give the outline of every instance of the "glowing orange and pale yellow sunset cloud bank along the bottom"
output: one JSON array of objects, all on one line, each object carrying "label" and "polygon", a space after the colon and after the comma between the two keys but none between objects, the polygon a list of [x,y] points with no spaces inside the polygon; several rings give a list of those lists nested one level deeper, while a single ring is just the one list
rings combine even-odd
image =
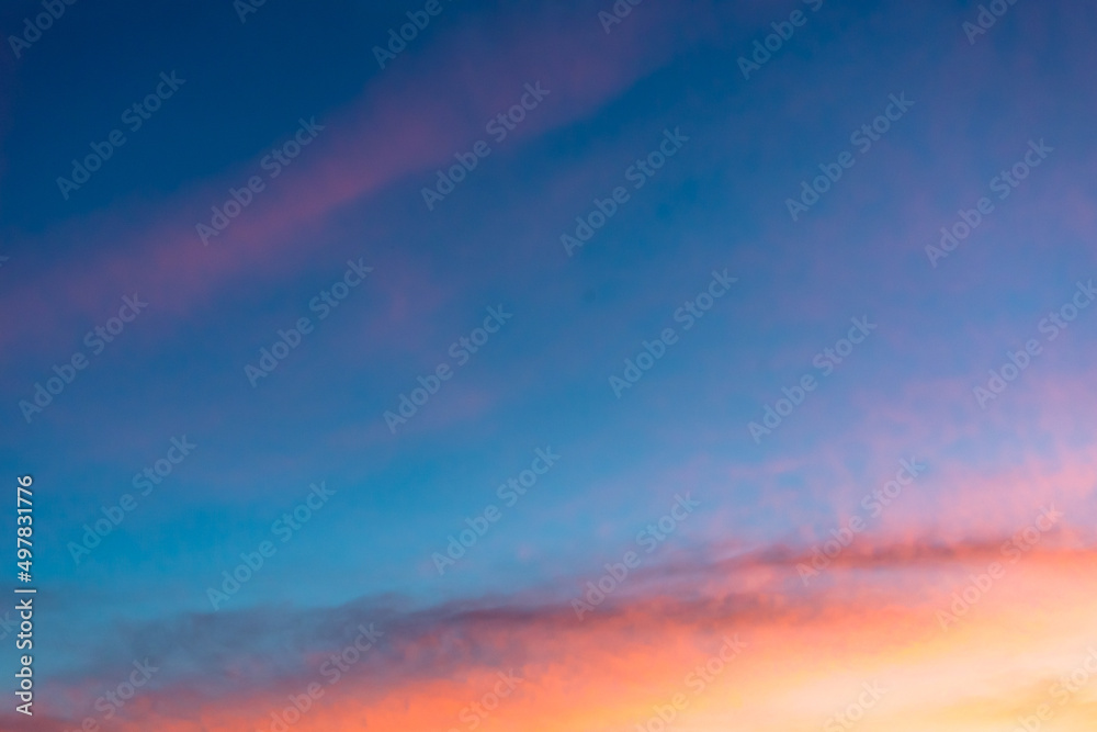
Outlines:
[{"label": "glowing orange and pale yellow sunset cloud bank along the bottom", "polygon": [[[581,621],[566,603],[529,598],[389,609],[376,647],[335,683],[324,660],[349,641],[326,632],[298,639],[316,650],[296,663],[284,657],[292,645],[268,649],[268,665],[252,664],[255,674],[287,663],[296,671],[267,682],[226,677],[218,691],[208,678],[176,674],[127,707],[118,729],[271,730],[276,713],[302,732],[635,732],[664,729],[663,718],[691,732],[989,732],[1041,709],[1060,725],[1052,729],[1089,729],[1097,553],[1039,543],[983,584],[992,562],[1007,561],[1000,543],[878,547],[806,589],[793,553],[663,567],[630,578],[634,586]],[[964,594],[971,586],[977,597]],[[954,611],[958,596],[972,601],[942,628],[939,612]],[[364,612],[329,611],[324,624],[351,626]],[[239,620],[271,637],[262,622]],[[201,633],[192,645],[217,642],[210,627],[200,629],[190,630]],[[732,653],[735,639],[743,646]],[[225,657],[251,667],[241,660],[247,639],[240,643]],[[310,684],[323,696],[306,702]],[[308,707],[299,718],[291,697]]]}]

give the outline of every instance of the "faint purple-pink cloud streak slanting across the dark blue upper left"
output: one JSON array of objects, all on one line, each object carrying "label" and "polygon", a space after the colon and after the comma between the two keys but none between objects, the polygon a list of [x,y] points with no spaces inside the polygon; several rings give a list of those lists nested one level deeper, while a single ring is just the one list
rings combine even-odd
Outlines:
[{"label": "faint purple-pink cloud streak slanting across the dark blue upper left", "polygon": [[[637,32],[703,14],[645,10]],[[16,342],[69,333],[79,327],[73,322],[104,312],[118,293],[134,289],[184,317],[241,278],[292,274],[316,258],[303,241],[328,217],[412,173],[431,178],[434,167],[484,136],[484,121],[513,104],[525,82],[541,80],[552,98],[543,102],[544,114],[531,115],[512,133],[517,139],[591,113],[665,61],[675,45],[667,40],[672,36],[652,41],[626,33],[592,43],[596,31],[592,16],[553,8],[490,21],[470,15],[448,41],[423,45],[419,56],[372,80],[359,103],[317,120],[325,131],[278,179],[268,180],[267,190],[208,247],[195,224],[208,222],[210,206],[223,204],[229,187],[259,172],[256,166],[226,171],[167,201],[131,203],[70,222],[25,244],[26,249],[55,249],[71,240],[84,246],[39,261],[36,273],[0,299],[0,312],[12,314],[0,345],[8,351]],[[389,224],[386,235],[396,236],[392,229],[399,226]],[[33,315],[16,318],[16,312]]]}]

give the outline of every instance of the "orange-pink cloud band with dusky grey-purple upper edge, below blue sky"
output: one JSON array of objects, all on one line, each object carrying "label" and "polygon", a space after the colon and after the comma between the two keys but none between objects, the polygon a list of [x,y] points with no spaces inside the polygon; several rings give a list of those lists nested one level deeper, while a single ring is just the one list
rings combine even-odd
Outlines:
[{"label": "orange-pink cloud band with dusky grey-purple upper edge, below blue sky", "polygon": [[[630,729],[630,719],[646,719],[651,705],[682,690],[690,669],[716,653],[727,634],[738,633],[750,650],[720,685],[734,679],[736,695],[756,699],[744,708],[749,716],[761,714],[777,697],[802,698],[806,708],[822,705],[813,685],[840,687],[844,678],[832,668],[834,657],[850,668],[891,664],[892,676],[921,684],[926,666],[975,653],[955,672],[974,683],[994,671],[998,651],[972,649],[987,634],[1013,632],[1010,623],[1026,617],[1032,638],[1010,650],[1026,662],[999,685],[1040,687],[1048,672],[1038,672],[1028,656],[1045,657],[1053,649],[1061,656],[1055,663],[1065,663],[1085,641],[1093,548],[1041,543],[1009,565],[1005,578],[947,632],[935,617],[950,607],[968,575],[1003,561],[999,547],[1007,538],[851,547],[828,568],[826,582],[806,589],[795,573],[798,563],[810,561],[805,549],[740,548],[708,562],[672,556],[629,577],[581,621],[558,590],[548,589],[437,606],[374,597],[337,608],[191,613],[120,627],[88,666],[52,679],[43,698],[86,709],[110,679],[124,680],[132,660],[150,657],[163,671],[143,692],[144,706],[127,710],[133,729],[261,724],[286,695],[312,683],[326,696],[299,729],[353,729],[362,716],[381,729],[446,729],[460,727],[461,710],[490,692],[502,671],[522,684],[500,703],[494,723],[536,719],[542,721],[522,729],[617,730]],[[725,552],[711,549],[713,556]],[[570,583],[576,594],[585,579]],[[330,683],[331,654],[348,649],[359,627],[371,623],[383,633],[375,647]],[[857,685],[849,688],[856,697]],[[895,696],[917,694],[912,687]],[[573,696],[575,703],[566,703]],[[934,697],[923,718],[955,719],[962,714],[951,705],[963,706],[964,699]],[[715,698],[704,703],[728,713]],[[996,713],[994,705],[983,709]],[[801,721],[801,712],[780,719]]]}]

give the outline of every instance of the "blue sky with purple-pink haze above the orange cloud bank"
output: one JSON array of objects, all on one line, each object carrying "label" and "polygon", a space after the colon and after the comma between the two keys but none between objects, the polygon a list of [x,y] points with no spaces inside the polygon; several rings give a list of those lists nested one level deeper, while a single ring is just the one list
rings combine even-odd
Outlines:
[{"label": "blue sky with purple-pink haze above the orange cloud bank", "polygon": [[[19,58],[0,54],[0,464],[33,473],[39,496],[50,718],[79,723],[89,679],[155,649],[172,663],[148,708],[127,712],[132,729],[245,729],[219,717],[231,700],[261,708],[263,694],[315,671],[329,632],[316,618],[359,607],[385,608],[422,638],[444,633],[453,608],[534,607],[514,627],[533,643],[542,616],[568,611],[677,494],[702,508],[614,600],[653,628],[677,618],[671,634],[711,623],[695,608],[667,611],[668,597],[914,608],[900,577],[918,562],[871,582],[855,573],[855,588],[819,599],[805,598],[788,559],[829,537],[901,459],[924,460],[927,475],[870,527],[866,556],[943,547],[977,562],[972,547],[1049,500],[1068,509],[1056,547],[1092,545],[1093,316],[1083,309],[1054,340],[1038,326],[1097,271],[1093,11],[1016,3],[970,43],[971,3],[812,4],[653,1],[607,33],[598,13],[610,5],[443,2],[382,69],[373,46],[419,7],[271,1],[241,22],[222,1],[78,2]],[[738,59],[796,9],[804,24],[744,78]],[[35,12],[13,3],[0,25],[14,32]],[[185,81],[126,129],[124,111],[161,74]],[[548,93],[496,142],[487,125],[525,85]],[[851,134],[901,94],[909,109],[859,148]],[[313,120],[315,139],[271,177],[264,156]],[[63,196],[57,178],[115,128],[125,145]],[[680,149],[636,188],[630,169],[667,134]],[[490,155],[428,209],[422,189],[477,140]],[[992,179],[1039,140],[1045,158],[998,199]],[[793,221],[787,200],[844,151],[851,167]],[[196,225],[256,176],[263,189],[204,244]],[[617,187],[629,200],[569,255],[562,235]],[[932,262],[941,226],[983,195],[995,210]],[[373,269],[320,319],[309,303],[344,281],[348,261]],[[675,314],[714,271],[737,281],[686,329]],[[93,353],[86,334],[135,294],[147,309]],[[451,346],[489,308],[513,316],[459,364]],[[314,329],[252,386],[245,367],[302,317]],[[877,328],[824,373],[813,360],[852,318]],[[610,378],[666,328],[677,340],[614,394]],[[982,408],[973,388],[1030,338],[1044,352]],[[21,401],[78,352],[87,369],[24,418]],[[391,430],[384,413],[443,363],[452,379]],[[817,388],[753,439],[748,425],[804,374]],[[136,494],[134,475],[184,436],[193,452],[75,562],[83,525]],[[497,486],[550,447],[558,463],[502,506]],[[282,543],[272,523],[320,482],[335,494]],[[431,554],[489,504],[501,519],[439,576]],[[207,588],[272,537],[276,553],[214,609]],[[747,576],[721,568],[743,558],[757,560]],[[924,581],[943,592],[946,576]],[[240,653],[275,671],[226,671],[206,644],[265,618],[282,630],[248,633]],[[294,623],[316,634],[274,660]],[[173,649],[165,639],[177,637]],[[619,640],[622,657],[637,647]],[[446,656],[446,678],[472,674],[497,642]],[[771,654],[758,663],[783,663]],[[522,657],[553,667],[551,653]],[[434,710],[439,694],[463,694],[428,683],[448,672],[405,672],[364,709],[384,717],[406,698]],[[207,686],[217,678],[223,689]],[[551,696],[559,675],[542,680]],[[579,707],[591,716],[553,723],[618,729],[598,703]],[[351,723],[331,713],[327,723]],[[733,719],[712,714],[689,729]]]}]

